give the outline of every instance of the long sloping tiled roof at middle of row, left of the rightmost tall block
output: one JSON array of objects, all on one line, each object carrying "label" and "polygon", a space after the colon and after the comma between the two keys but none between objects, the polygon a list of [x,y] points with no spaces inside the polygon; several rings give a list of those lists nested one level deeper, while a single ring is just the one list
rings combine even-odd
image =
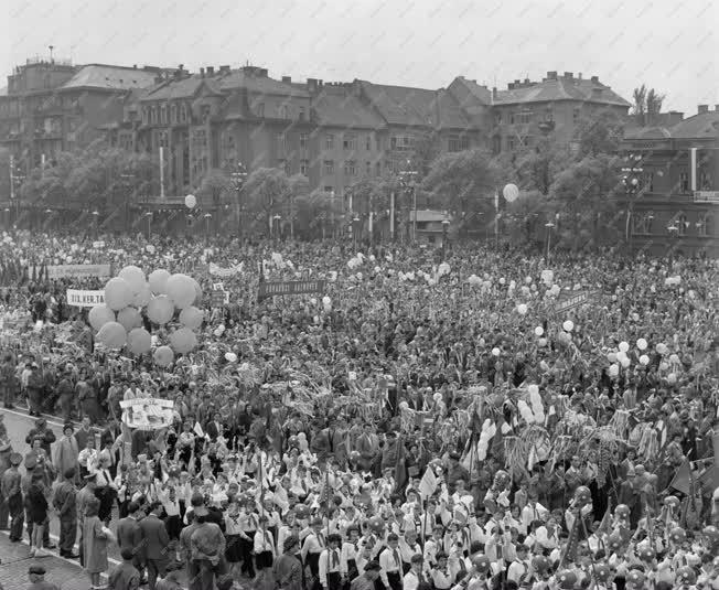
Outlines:
[{"label": "long sloping tiled roof at middle of row, left of the rightmost tall block", "polygon": [[357,81],[372,106],[389,125],[466,128],[457,100],[447,90],[386,86]]}]

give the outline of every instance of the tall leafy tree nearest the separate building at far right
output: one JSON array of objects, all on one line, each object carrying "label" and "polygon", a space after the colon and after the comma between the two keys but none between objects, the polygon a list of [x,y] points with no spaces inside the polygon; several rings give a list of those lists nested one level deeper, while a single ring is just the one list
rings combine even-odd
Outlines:
[{"label": "tall leafy tree nearest the separate building at far right", "polygon": [[600,226],[614,226],[621,165],[616,155],[587,155],[557,175],[549,192],[560,214],[557,234],[562,243],[573,249],[595,246]]}]

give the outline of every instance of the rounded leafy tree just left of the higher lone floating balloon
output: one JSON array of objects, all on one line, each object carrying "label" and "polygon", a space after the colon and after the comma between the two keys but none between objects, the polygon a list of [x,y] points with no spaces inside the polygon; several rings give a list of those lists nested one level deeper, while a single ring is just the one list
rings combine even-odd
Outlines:
[{"label": "rounded leafy tree just left of the higher lone floating balloon", "polygon": [[501,179],[501,169],[482,150],[440,155],[432,164],[422,187],[441,208],[454,214],[486,208]]}]

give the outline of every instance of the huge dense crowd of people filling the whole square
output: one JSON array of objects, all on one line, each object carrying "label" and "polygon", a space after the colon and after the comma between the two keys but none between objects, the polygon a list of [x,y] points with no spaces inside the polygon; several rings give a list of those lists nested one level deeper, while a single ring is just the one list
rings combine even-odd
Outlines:
[{"label": "huge dense crowd of people filling the whole square", "polygon": [[[25,233],[0,260],[0,397],[37,416],[0,528],[39,558],[56,516],[94,587],[719,588],[716,260]],[[65,291],[106,278],[42,269],[99,262],[194,277],[197,348],[98,346]],[[298,279],[323,290],[257,301]],[[144,398],[172,425],[130,428]]]}]

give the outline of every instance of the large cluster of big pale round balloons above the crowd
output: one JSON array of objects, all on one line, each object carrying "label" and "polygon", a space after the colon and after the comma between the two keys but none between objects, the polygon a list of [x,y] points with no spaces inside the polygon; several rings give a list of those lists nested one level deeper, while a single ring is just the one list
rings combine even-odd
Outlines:
[{"label": "large cluster of big pale round balloons above the crowd", "polygon": [[146,278],[136,266],[125,267],[105,285],[105,304],[89,311],[89,323],[99,343],[111,350],[127,346],[133,354],[152,350],[153,339],[143,328],[140,310],[146,309],[151,323],[164,326],[179,311],[176,328],[164,344],[154,350],[154,362],[168,366],[175,354],[186,354],[197,345],[195,330],[204,320],[195,303],[202,300],[200,283],[186,275],[154,270]]}]

